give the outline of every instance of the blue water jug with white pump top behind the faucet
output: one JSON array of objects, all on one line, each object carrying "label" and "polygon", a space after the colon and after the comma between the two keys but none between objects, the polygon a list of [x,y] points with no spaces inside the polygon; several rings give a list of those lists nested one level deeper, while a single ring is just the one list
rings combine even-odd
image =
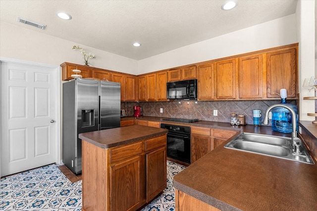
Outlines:
[{"label": "blue water jug with white pump top behind the faucet", "polygon": [[[291,133],[293,131],[292,118],[298,120],[297,106],[286,102],[286,89],[280,89],[281,104],[287,104],[296,113],[296,117],[292,117],[292,114],[286,108],[277,107],[272,109],[272,130],[277,132]],[[298,121],[296,121],[298,122]],[[298,124],[296,126],[298,131]]]}]

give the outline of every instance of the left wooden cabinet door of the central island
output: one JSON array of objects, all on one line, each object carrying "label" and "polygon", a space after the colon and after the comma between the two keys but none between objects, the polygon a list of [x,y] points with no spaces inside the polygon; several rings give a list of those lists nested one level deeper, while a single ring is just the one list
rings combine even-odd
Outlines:
[{"label": "left wooden cabinet door of the central island", "polygon": [[110,168],[111,211],[135,211],[145,204],[144,172],[144,156],[137,156]]}]

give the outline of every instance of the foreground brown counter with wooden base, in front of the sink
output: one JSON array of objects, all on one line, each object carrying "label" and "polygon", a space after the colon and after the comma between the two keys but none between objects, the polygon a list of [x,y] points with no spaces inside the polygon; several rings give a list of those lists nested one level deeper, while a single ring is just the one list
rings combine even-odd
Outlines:
[{"label": "foreground brown counter with wooden base, in front of the sink", "polygon": [[224,148],[231,139],[174,176],[176,211],[317,210],[316,160]]}]

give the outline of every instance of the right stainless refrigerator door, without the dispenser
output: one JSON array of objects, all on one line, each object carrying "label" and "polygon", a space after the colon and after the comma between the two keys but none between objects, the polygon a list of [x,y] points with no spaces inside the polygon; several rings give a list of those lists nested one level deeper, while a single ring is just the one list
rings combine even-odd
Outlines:
[{"label": "right stainless refrigerator door, without the dispenser", "polygon": [[100,82],[100,129],[120,127],[120,83]]}]

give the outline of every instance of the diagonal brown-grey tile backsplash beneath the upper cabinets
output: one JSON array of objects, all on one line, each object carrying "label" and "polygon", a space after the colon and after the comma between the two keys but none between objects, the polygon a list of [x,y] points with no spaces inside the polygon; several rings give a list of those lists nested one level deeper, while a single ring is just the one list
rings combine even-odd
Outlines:
[{"label": "diagonal brown-grey tile backsplash beneath the upper cabinets", "polygon": [[[197,104],[196,104],[197,102]],[[126,111],[127,116],[133,116],[133,106],[141,106],[144,116],[199,119],[204,121],[230,122],[230,114],[242,114],[245,116],[245,123],[253,125],[253,109],[260,109],[263,113],[280,100],[241,100],[241,101],[195,101],[176,100],[169,102],[121,102],[121,109]],[[287,100],[287,103],[297,105],[297,100]],[[160,108],[163,113],[160,113]],[[213,110],[218,111],[213,116]]]}]

